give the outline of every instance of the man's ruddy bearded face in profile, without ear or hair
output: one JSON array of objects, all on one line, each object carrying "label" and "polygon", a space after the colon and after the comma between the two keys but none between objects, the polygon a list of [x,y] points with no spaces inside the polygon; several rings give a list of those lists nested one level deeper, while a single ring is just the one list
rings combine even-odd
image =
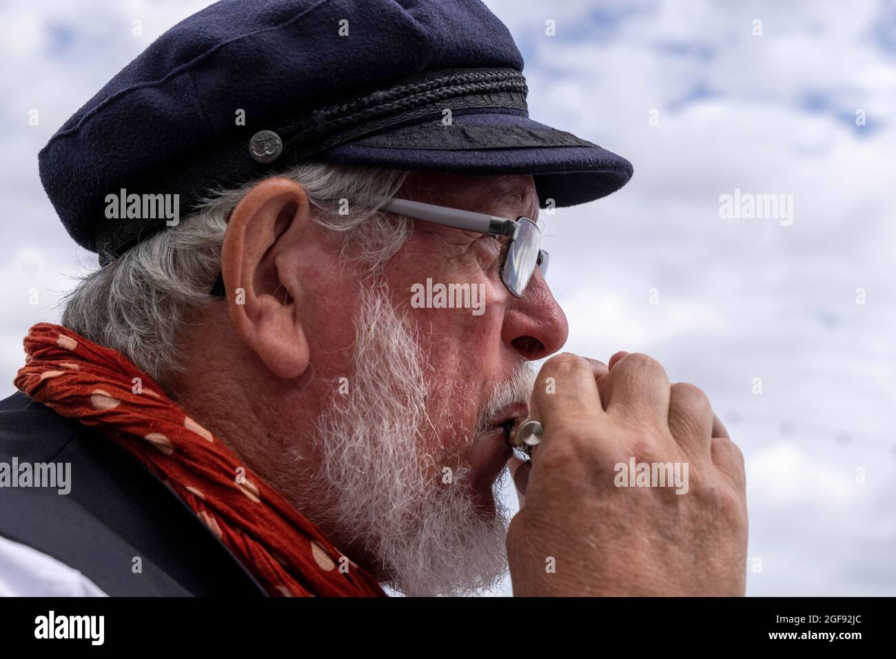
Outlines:
[{"label": "man's ruddy bearded face in profile, without ear or hair", "polygon": [[[538,216],[530,176],[411,175],[398,196]],[[340,251],[315,235],[332,241],[322,252]],[[540,272],[522,298],[504,287],[502,240],[415,222],[380,273],[301,254],[286,266],[313,307],[303,313],[313,372],[280,381],[292,403],[269,429],[283,434],[282,454],[263,460],[264,475],[409,595],[473,591],[507,569],[509,515],[495,497],[511,457],[503,424],[526,414],[528,362],[562,347],[567,326]],[[478,309],[411,304],[427,278],[478,289]]]}]

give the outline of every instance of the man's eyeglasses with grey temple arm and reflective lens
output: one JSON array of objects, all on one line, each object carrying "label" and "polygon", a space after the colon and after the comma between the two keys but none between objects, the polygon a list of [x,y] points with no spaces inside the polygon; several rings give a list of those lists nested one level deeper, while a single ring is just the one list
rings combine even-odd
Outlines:
[{"label": "man's eyeglasses with grey temple arm and reflective lens", "polygon": [[[547,277],[550,255],[540,248],[544,223],[538,218],[535,220],[524,217],[496,218],[494,215],[476,213],[472,210],[452,209],[408,199],[392,199],[384,208],[398,215],[434,222],[444,227],[476,231],[495,237],[506,236],[507,244],[501,253],[498,267],[501,282],[514,297],[522,297],[536,266],[541,270],[541,276]],[[210,295],[212,297],[226,295],[222,276],[219,275],[211,287]]]}]

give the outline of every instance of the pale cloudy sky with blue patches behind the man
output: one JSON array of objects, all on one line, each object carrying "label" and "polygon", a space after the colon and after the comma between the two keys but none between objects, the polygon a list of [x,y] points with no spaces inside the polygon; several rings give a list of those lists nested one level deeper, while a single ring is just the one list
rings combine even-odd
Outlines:
[{"label": "pale cloudy sky with blue patches behind the man", "polygon": [[[0,1],[0,393],[27,329],[96,265],[38,150],[204,4]],[[525,56],[530,115],[634,165],[547,218],[566,349],[645,352],[708,392],[747,463],[748,595],[896,595],[896,4],[487,4]],[[788,212],[727,217],[736,190]]]}]

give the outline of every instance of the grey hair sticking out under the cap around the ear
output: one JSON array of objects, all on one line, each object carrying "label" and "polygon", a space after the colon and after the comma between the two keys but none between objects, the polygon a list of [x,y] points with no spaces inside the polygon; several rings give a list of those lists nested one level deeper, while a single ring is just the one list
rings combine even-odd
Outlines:
[{"label": "grey hair sticking out under the cap around the ear", "polygon": [[[408,172],[310,163],[278,175],[302,185],[314,221],[345,234],[343,259],[362,270],[380,269],[409,235],[407,218],[382,212]],[[181,371],[180,329],[210,304],[228,216],[259,180],[211,192],[176,227],[85,275],[65,295],[62,324],[121,352],[157,382]]]}]

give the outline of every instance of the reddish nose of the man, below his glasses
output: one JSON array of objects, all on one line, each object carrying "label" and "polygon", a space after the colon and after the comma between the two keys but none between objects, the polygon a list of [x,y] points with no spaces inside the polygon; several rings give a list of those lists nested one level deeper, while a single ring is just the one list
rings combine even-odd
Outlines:
[{"label": "reddish nose of the man, below his glasses", "polygon": [[556,353],[568,336],[566,314],[536,270],[522,297],[508,295],[501,338],[521,356],[536,360]]}]

